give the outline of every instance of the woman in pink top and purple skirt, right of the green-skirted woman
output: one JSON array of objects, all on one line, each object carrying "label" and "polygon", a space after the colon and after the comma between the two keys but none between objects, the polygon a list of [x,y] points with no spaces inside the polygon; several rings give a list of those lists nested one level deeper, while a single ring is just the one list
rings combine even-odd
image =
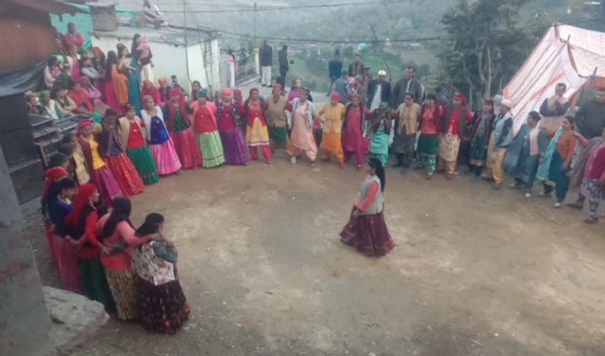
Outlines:
[{"label": "woman in pink top and purple skirt, right of the green-skirted woman", "polygon": [[223,90],[223,95],[216,106],[216,119],[225,161],[228,165],[247,165],[250,161],[250,152],[241,128],[240,103],[233,97],[231,89]]}]

